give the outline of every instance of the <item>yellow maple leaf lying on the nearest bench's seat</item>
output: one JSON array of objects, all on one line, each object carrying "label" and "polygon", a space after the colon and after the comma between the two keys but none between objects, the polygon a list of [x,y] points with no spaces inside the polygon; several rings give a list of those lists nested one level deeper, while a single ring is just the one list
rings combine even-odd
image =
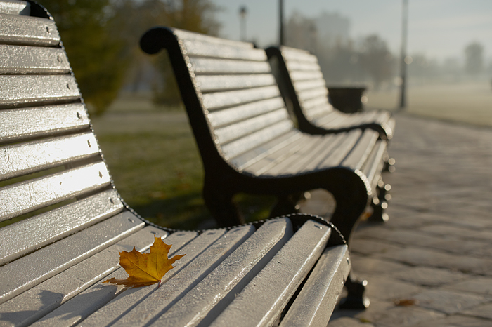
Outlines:
[{"label": "yellow maple leaf lying on the nearest bench's seat", "polygon": [[174,267],[172,264],[183,258],[183,255],[174,255],[167,258],[170,245],[162,241],[160,237],[154,236],[154,243],[150,246],[150,253],[140,253],[134,248],[130,252],[119,253],[119,265],[130,275],[127,279],[111,278],[103,283],[112,283],[131,287],[141,287],[159,283],[160,280]]}]

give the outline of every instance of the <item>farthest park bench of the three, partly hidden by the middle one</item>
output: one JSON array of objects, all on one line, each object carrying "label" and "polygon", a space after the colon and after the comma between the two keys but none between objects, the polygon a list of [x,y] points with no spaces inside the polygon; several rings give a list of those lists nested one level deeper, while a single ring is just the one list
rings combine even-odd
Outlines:
[{"label": "farthest park bench of the three, partly hidden by the middle one", "polygon": [[316,55],[287,46],[271,46],[266,53],[278,68],[280,90],[292,103],[301,131],[326,134],[352,128],[372,128],[384,140],[393,137],[395,121],[389,112],[373,110],[346,114],[330,104]]}]

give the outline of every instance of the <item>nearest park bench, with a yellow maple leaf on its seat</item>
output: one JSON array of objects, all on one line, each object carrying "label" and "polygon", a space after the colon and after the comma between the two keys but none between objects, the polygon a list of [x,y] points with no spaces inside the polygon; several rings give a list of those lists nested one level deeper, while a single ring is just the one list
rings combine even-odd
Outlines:
[{"label": "nearest park bench, with a yellow maple leaf on its seat", "polygon": [[[125,278],[119,251],[154,237],[186,253],[160,288],[101,285]],[[199,232],[138,216],[53,18],[0,1],[0,326],[325,326],[350,267],[342,234],[312,215]]]}]

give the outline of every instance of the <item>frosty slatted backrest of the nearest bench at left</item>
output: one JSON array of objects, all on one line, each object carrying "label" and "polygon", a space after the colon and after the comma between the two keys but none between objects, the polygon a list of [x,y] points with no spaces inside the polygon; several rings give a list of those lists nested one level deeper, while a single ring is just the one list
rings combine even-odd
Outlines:
[{"label": "frosty slatted backrest of the nearest bench at left", "polygon": [[55,22],[2,2],[0,265],[123,209]]}]

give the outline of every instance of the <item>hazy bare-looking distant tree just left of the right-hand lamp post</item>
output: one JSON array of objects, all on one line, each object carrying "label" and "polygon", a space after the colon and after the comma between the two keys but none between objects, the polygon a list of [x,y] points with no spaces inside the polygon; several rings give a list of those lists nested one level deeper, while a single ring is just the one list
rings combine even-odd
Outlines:
[{"label": "hazy bare-looking distant tree just left of the right-hand lamp post", "polygon": [[373,79],[375,88],[391,79],[394,69],[394,58],[389,52],[385,41],[377,35],[367,36],[361,48],[361,65]]}]

